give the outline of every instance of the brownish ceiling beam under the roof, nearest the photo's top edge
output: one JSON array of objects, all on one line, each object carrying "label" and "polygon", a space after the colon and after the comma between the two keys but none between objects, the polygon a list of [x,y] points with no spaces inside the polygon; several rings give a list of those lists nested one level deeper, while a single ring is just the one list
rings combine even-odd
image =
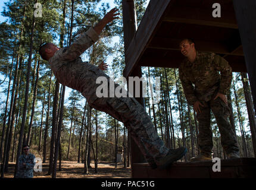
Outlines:
[{"label": "brownish ceiling beam under the roof, nearest the photo's top edge", "polygon": [[[214,18],[212,15],[212,5],[208,9],[200,7],[173,7],[168,15],[164,17],[164,22],[198,24],[203,26],[223,27],[229,29],[238,29],[236,24],[235,12],[221,11],[220,18]],[[232,6],[232,4],[230,4]]]}]

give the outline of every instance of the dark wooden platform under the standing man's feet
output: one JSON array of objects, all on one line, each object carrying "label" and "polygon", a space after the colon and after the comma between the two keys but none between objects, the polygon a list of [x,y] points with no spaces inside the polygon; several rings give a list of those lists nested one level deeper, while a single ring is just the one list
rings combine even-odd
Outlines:
[{"label": "dark wooden platform under the standing man's feet", "polygon": [[151,169],[148,163],[133,163],[133,178],[256,178],[256,159],[221,160],[221,172],[213,162],[174,162],[170,168]]}]

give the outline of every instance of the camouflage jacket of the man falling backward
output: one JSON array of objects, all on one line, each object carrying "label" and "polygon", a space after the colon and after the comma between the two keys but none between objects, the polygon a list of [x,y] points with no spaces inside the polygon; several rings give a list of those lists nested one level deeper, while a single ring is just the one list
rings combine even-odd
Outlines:
[{"label": "camouflage jacket of the man falling backward", "polygon": [[90,28],[71,46],[61,48],[49,59],[58,82],[80,91],[88,102],[93,102],[97,98],[92,85],[95,85],[96,81],[96,75],[93,75],[93,72],[97,73],[99,69],[88,62],[83,62],[79,56],[98,39],[96,31]]}]

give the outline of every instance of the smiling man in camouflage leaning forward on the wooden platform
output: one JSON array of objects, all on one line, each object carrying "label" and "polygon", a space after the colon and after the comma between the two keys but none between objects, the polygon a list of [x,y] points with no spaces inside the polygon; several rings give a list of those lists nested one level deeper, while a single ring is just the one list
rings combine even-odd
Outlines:
[{"label": "smiling man in camouflage leaning forward on the wooden platform", "polygon": [[224,58],[215,53],[198,52],[192,39],[182,40],[180,50],[186,58],[179,67],[179,77],[186,99],[189,105],[193,105],[199,121],[198,144],[201,154],[193,157],[191,161],[213,159],[211,110],[216,118],[221,145],[227,157],[238,158],[239,149],[235,129],[232,129],[228,120],[230,109],[226,97],[232,80],[231,67]]}]

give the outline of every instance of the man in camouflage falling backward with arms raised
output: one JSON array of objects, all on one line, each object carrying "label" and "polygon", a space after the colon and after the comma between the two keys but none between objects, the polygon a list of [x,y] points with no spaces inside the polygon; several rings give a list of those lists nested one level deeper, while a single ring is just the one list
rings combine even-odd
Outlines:
[{"label": "man in camouflage falling backward with arms raised", "polygon": [[[56,45],[47,43],[40,47],[39,53],[49,62],[59,83],[80,91],[91,107],[123,122],[150,166],[161,169],[183,157],[186,148],[168,150],[158,137],[144,108],[133,97],[97,97],[96,88],[99,84],[96,84],[96,79],[107,78],[109,93],[110,77],[101,71],[101,69],[104,70],[104,64],[99,67],[93,66],[83,62],[79,57],[98,40],[99,34],[107,23],[118,18],[116,12],[115,8],[108,12],[95,27],[83,33],[70,47],[59,49]],[[118,87],[117,84],[115,84],[116,87]]]}]

